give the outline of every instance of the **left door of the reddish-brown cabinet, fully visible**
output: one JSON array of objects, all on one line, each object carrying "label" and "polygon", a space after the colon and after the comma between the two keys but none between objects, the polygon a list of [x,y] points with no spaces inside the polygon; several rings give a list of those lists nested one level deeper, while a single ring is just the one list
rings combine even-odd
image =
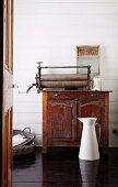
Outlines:
[{"label": "left door of the reddish-brown cabinet, fully visible", "polygon": [[76,105],[74,101],[48,101],[48,142],[72,141],[75,136]]}]

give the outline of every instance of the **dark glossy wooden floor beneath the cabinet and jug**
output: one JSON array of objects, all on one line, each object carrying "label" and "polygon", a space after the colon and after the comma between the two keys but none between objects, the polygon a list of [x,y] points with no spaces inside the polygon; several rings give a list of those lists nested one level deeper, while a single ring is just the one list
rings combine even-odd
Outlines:
[{"label": "dark glossy wooden floor beneath the cabinet and jug", "polygon": [[78,158],[76,148],[42,148],[13,158],[12,187],[118,187],[118,148],[101,153],[101,160]]}]

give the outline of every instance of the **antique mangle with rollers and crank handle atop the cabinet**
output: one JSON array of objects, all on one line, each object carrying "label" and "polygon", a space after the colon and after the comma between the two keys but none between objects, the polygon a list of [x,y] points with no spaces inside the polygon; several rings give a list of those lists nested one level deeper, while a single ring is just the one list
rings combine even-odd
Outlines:
[{"label": "antique mangle with rollers and crank handle atop the cabinet", "polygon": [[[36,74],[36,84],[33,84],[28,90],[36,86],[37,92],[40,92],[45,88],[61,88],[61,89],[83,89],[90,90],[91,87],[91,66],[42,66],[42,62],[38,63],[38,73]],[[76,74],[43,74],[43,69],[48,68],[76,68],[86,69],[86,73]]]}]

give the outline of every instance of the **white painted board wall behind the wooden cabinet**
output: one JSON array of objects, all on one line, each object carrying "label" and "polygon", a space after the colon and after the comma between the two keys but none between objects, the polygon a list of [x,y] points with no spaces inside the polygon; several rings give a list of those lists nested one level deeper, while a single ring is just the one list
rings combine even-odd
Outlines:
[{"label": "white painted board wall behind the wooden cabinet", "polygon": [[14,129],[30,127],[42,144],[42,94],[36,62],[76,65],[76,45],[101,45],[102,88],[113,90],[109,146],[118,146],[118,0],[14,0]]}]

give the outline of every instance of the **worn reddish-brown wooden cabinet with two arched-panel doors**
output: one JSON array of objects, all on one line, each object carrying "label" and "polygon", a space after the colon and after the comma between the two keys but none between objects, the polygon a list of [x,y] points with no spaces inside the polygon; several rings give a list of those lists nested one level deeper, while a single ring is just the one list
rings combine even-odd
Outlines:
[{"label": "worn reddish-brown wooden cabinet with two arched-panel doors", "polygon": [[109,91],[43,91],[43,153],[51,146],[79,146],[82,123],[79,117],[97,118],[99,147],[108,147]]}]

